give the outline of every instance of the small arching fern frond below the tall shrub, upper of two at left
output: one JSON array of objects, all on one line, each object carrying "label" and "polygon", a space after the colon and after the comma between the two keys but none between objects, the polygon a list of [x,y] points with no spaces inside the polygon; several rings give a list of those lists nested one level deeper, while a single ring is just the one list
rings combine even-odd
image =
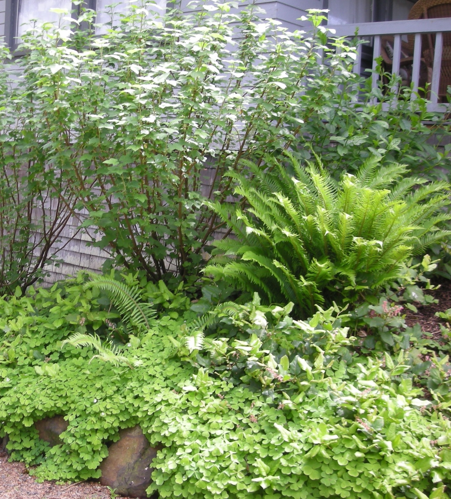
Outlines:
[{"label": "small arching fern frond below the tall shrub, upper of two at left", "polygon": [[134,289],[113,277],[95,273],[89,275],[91,280],[85,284],[85,289],[96,287],[106,291],[125,324],[150,329],[150,321],[156,312],[152,303],[140,301],[141,291],[138,288]]}]

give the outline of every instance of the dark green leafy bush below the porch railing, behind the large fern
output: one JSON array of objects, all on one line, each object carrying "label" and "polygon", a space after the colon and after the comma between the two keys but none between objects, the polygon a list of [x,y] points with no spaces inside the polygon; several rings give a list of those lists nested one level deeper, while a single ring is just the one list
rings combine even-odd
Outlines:
[{"label": "dark green leafy bush below the porch railing, behind the large fern", "polygon": [[[298,157],[312,159],[312,148],[336,178],[344,167],[354,173],[362,161],[377,155],[384,164],[403,163],[416,174],[449,181],[447,114],[428,112],[428,101],[418,95],[412,99],[410,88],[395,96],[381,87],[370,90],[370,81],[358,104],[352,104],[357,99],[350,82],[340,95],[328,95],[329,105],[315,107],[303,127]],[[390,88],[398,84],[392,79]]]}]

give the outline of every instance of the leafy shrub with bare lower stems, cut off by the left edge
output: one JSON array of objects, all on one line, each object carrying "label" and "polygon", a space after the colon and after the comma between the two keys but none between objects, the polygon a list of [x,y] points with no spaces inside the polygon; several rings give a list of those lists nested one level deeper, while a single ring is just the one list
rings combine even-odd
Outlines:
[{"label": "leafy shrub with bare lower stems, cut off by the left edge", "polygon": [[12,96],[10,57],[0,42],[0,294],[42,280],[60,236],[78,233],[66,230],[76,200],[45,153],[45,119],[29,95]]}]

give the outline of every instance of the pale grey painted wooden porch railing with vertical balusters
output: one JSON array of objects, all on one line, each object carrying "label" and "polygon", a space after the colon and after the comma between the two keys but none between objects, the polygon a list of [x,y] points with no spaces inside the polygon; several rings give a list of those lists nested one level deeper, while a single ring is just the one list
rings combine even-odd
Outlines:
[{"label": "pale grey painted wooden porch railing with vertical balusters", "polygon": [[[415,43],[412,54],[411,76],[411,82],[413,83],[413,92],[418,91],[420,82],[420,67],[422,64],[422,37],[424,34],[435,35],[434,57],[432,61],[432,68],[429,68],[432,69],[432,71],[429,71],[428,78],[428,83],[430,85],[428,99],[431,101],[428,105],[428,110],[444,112],[449,109],[448,104],[439,102],[439,86],[441,76],[445,77],[445,75],[443,75],[443,71],[441,71],[443,55],[446,54],[447,58],[450,57],[449,52],[451,50],[451,47],[446,47],[446,50],[444,51],[443,41],[444,33],[451,32],[451,17],[328,25],[327,28],[331,30],[332,36],[354,37],[355,33],[358,32],[358,38],[373,38],[373,73],[371,74],[373,88],[378,85],[379,80],[379,74],[376,72],[376,59],[381,55],[382,37],[390,35],[394,38],[392,72],[399,75],[402,54],[402,37],[403,35],[410,35],[411,37],[412,35],[414,35]],[[360,74],[362,61],[362,44],[359,44],[358,51],[359,55],[354,65],[354,72]],[[444,59],[443,62],[447,65],[450,64],[449,59]],[[412,98],[413,97],[414,94]]]}]

